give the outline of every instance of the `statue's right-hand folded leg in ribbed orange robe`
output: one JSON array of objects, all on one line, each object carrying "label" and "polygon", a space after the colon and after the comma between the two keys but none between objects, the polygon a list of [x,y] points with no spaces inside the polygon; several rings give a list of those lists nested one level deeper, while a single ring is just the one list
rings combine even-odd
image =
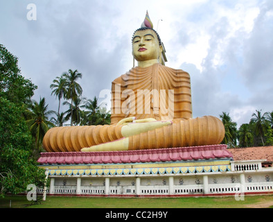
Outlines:
[{"label": "statue's right-hand folded leg in ribbed orange robe", "polygon": [[220,144],[224,126],[216,117],[175,120],[172,125],[129,137],[129,150]]}]

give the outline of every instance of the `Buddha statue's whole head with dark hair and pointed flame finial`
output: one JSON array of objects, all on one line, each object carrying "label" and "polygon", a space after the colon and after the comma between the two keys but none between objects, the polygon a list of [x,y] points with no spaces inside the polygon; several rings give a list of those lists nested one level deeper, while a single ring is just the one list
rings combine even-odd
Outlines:
[{"label": "Buddha statue's whole head with dark hair and pointed flame finial", "polygon": [[134,31],[132,37],[132,55],[138,62],[159,60],[162,44],[159,35],[152,27],[152,22],[146,12],[141,28]]}]

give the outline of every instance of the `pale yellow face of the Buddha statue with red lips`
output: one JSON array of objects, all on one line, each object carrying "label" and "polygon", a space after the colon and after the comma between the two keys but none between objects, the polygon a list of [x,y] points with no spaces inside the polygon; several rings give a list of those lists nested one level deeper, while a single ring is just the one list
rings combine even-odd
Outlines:
[{"label": "pale yellow face of the Buddha statue with red lips", "polygon": [[151,29],[136,31],[132,40],[132,54],[137,61],[159,58],[162,47],[159,46],[157,34]]}]

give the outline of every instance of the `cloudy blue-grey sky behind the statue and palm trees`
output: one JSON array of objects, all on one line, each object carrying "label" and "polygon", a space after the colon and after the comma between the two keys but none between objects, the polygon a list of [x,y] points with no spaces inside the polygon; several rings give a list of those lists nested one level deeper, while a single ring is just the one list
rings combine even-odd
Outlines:
[{"label": "cloudy blue-grey sky behind the statue and palm trees", "polygon": [[33,99],[57,111],[49,86],[69,69],[82,73],[82,96],[107,97],[132,67],[146,10],[166,65],[191,75],[193,117],[228,112],[240,126],[255,110],[273,111],[272,0],[0,0],[0,44],[38,86]]}]

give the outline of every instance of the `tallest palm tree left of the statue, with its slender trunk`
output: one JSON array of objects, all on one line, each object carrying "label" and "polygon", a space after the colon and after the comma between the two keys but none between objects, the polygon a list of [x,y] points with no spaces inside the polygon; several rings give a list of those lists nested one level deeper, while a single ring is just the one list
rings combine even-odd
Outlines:
[{"label": "tallest palm tree left of the statue, with its slender trunk", "polygon": [[[76,82],[78,78],[82,78],[82,74],[78,73],[77,69],[75,71],[69,69],[68,72],[64,72],[63,77],[66,80],[66,94],[64,98],[71,99],[70,104],[73,104],[73,101],[76,101],[78,96],[82,94],[82,87]],[[73,124],[73,117],[73,105],[71,105],[71,126]]]}]

